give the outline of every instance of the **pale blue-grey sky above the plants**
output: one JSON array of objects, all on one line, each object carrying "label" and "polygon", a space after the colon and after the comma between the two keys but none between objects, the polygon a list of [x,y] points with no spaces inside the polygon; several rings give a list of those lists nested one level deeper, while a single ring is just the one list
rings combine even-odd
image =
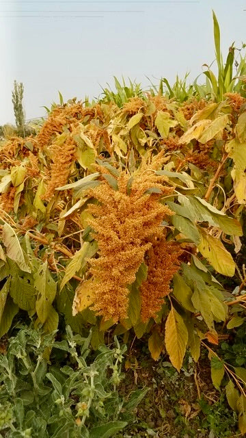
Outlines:
[{"label": "pale blue-grey sky above the plants", "polygon": [[14,123],[14,79],[24,84],[26,118],[42,105],[77,96],[98,97],[113,75],[148,87],[150,77],[190,72],[215,59],[213,18],[226,59],[235,41],[246,42],[246,0],[26,1],[0,0],[0,125]]}]

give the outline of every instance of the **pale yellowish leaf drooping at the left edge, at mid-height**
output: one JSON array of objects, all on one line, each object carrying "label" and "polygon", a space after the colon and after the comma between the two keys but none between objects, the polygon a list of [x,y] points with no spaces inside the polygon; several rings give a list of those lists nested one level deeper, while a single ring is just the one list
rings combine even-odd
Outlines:
[{"label": "pale yellowish leaf drooping at the left edge, at mid-height", "polygon": [[21,270],[25,272],[31,272],[31,269],[27,265],[25,254],[20,246],[18,237],[12,227],[10,227],[10,225],[6,222],[3,225],[2,239],[3,244],[6,247],[6,253],[8,257],[14,260]]}]

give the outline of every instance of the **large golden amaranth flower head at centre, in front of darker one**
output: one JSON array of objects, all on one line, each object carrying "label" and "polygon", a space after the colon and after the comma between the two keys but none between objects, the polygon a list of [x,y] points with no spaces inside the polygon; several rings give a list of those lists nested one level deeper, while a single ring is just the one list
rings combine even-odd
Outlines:
[{"label": "large golden amaranth flower head at centre, in front of darker one", "polygon": [[[118,190],[114,190],[103,179],[98,187],[88,191],[98,200],[98,204],[88,207],[94,216],[90,225],[99,248],[98,259],[90,259],[90,274],[96,279],[92,286],[93,309],[114,322],[127,318],[128,285],[135,281],[161,222],[173,214],[159,202],[161,196],[173,190],[165,177],[144,170],[130,184],[126,172],[121,172],[117,183]],[[155,192],[148,192],[150,188]]]}]

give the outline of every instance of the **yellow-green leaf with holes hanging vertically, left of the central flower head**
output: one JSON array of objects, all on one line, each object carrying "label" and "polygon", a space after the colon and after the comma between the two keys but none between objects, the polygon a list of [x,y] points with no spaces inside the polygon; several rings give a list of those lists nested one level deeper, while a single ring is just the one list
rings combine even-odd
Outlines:
[{"label": "yellow-green leaf with holes hanging vertically, left of the central flower head", "polygon": [[38,318],[44,324],[49,316],[49,311],[56,294],[56,283],[49,272],[48,263],[45,261],[38,272],[33,274],[34,287],[38,291],[36,300],[36,311]]}]

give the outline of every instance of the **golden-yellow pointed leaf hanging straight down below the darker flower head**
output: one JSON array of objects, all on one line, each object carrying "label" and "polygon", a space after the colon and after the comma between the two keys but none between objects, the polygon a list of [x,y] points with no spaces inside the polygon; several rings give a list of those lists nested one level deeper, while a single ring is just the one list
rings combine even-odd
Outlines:
[{"label": "golden-yellow pointed leaf hanging straight down below the darker flower head", "polygon": [[172,365],[180,372],[188,342],[187,326],[180,314],[172,307],[165,324],[165,346]]}]

